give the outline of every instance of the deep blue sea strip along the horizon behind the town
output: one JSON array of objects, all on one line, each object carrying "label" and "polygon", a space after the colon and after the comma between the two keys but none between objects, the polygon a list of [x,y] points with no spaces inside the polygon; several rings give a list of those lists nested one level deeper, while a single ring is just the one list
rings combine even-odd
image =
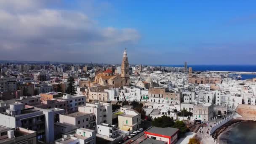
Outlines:
[{"label": "deep blue sea strip along the horizon behind the town", "polygon": [[[184,67],[184,65],[160,65],[162,67]],[[256,72],[256,65],[188,65],[193,71],[228,71],[228,72]],[[256,75],[242,74],[241,80],[252,79]]]}]

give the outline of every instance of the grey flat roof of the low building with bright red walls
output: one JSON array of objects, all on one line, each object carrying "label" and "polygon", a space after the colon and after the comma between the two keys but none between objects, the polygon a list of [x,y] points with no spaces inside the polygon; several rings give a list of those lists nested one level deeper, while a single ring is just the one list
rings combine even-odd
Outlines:
[{"label": "grey flat roof of the low building with bright red walls", "polygon": [[152,128],[150,128],[149,130],[147,130],[145,132],[161,134],[161,135],[164,135],[164,136],[172,136],[177,131],[179,131],[178,128],[170,128],[170,127],[158,128],[158,127],[153,126]]}]

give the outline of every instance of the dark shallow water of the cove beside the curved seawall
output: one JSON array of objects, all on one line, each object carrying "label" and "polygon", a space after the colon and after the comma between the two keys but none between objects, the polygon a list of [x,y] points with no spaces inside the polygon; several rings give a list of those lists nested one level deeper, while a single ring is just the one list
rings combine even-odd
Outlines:
[{"label": "dark shallow water of the cove beside the curved seawall", "polygon": [[241,122],[221,134],[220,144],[256,144],[256,122]]}]

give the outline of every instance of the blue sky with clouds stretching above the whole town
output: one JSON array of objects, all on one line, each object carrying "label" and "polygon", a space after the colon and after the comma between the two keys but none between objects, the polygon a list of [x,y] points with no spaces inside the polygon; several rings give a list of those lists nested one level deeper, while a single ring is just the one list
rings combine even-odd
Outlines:
[{"label": "blue sky with clouds stretching above the whole town", "polygon": [[[256,1],[26,2],[30,3],[24,5],[27,11],[7,7],[8,0],[2,5],[5,13],[14,13],[12,19],[22,25],[17,15],[24,15],[29,24],[35,23],[35,32],[43,33],[25,33],[35,40],[13,36],[17,44],[9,37],[2,45],[4,59],[120,63],[127,47],[131,64],[256,64]],[[38,17],[51,23],[38,22]],[[0,31],[5,27],[0,26]],[[43,49],[44,53],[27,58],[15,49],[31,54]]]}]

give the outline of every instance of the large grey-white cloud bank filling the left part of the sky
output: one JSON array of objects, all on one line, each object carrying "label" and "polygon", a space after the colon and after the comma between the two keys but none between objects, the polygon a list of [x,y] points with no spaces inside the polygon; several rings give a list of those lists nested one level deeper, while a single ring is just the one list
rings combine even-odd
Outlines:
[{"label": "large grey-white cloud bank filling the left part of the sky", "polygon": [[99,27],[85,13],[41,0],[0,0],[0,8],[1,59],[98,62],[140,39],[136,29]]}]

